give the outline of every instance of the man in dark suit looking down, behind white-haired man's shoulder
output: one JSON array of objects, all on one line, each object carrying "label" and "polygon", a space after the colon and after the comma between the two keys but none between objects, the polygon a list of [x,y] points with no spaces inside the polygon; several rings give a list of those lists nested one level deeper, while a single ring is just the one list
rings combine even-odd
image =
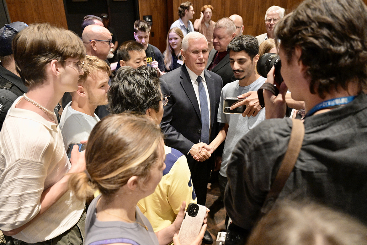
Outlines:
[{"label": "man in dark suit looking down, behind white-haired man's shoulder", "polygon": [[205,69],[217,73],[223,80],[223,86],[236,80],[229,64],[227,45],[236,36],[235,22],[230,18],[221,18],[214,25],[213,46]]}]

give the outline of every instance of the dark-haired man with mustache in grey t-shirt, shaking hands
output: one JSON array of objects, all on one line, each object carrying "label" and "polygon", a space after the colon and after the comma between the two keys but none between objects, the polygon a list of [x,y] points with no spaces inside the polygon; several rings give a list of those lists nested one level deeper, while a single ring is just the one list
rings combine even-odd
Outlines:
[{"label": "dark-haired man with mustache in grey t-shirt, shaking hands", "polygon": [[[219,100],[218,123],[224,123],[224,127],[219,131],[218,136],[210,143],[209,147],[205,147],[212,153],[225,140],[222,162],[221,164],[219,163],[219,166],[216,166],[217,169],[220,167],[218,179],[222,197],[227,184],[227,163],[235,145],[248,131],[265,120],[265,108],[259,112],[254,110],[253,114],[246,112],[245,114],[248,116],[224,114],[224,98],[237,97],[249,91],[257,91],[266,80],[255,73],[255,66],[259,59],[259,46],[255,37],[250,35],[235,37],[228,44],[227,52],[229,54],[230,66],[238,80],[226,84],[222,89],[221,99]],[[252,107],[247,107],[247,111],[250,109],[253,110]]]}]

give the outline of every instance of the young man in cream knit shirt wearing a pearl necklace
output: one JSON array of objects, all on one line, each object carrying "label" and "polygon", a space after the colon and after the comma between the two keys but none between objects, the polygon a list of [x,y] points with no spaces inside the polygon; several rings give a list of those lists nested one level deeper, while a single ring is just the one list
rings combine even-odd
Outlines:
[{"label": "young man in cream knit shirt wearing a pearl necklace", "polygon": [[85,202],[69,190],[68,173],[85,170],[84,154],[74,149],[68,160],[53,110],[77,90],[86,50],[75,33],[50,24],[21,30],[12,50],[28,92],[0,132],[0,229],[21,245],[83,244]]}]

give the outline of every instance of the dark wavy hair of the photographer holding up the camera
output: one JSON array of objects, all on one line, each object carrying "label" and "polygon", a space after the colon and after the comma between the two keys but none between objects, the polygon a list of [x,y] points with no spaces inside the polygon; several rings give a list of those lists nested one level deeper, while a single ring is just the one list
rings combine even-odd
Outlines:
[{"label": "dark wavy hair of the photographer holding up the camera", "polygon": [[308,66],[310,92],[325,98],[356,79],[367,79],[367,7],[361,0],[306,0],[275,26],[289,63],[295,47]]}]

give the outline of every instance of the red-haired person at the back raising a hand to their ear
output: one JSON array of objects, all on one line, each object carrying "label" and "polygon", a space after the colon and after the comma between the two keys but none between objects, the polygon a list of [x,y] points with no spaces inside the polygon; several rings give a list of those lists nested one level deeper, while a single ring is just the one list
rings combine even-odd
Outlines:
[{"label": "red-haired person at the back raising a hand to their ear", "polygon": [[213,6],[204,5],[201,7],[200,18],[194,21],[194,30],[203,34],[209,46],[209,52],[214,48],[213,46],[213,30],[215,22],[211,20],[213,15]]}]

